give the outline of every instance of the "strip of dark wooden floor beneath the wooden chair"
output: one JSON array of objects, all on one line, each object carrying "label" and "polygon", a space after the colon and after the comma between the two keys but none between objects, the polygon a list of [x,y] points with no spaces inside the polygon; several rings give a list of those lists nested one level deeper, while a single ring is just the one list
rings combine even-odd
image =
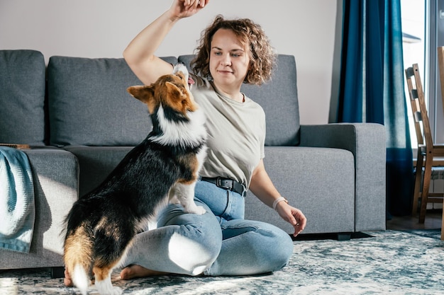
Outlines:
[{"label": "strip of dark wooden floor beneath the wooden chair", "polygon": [[423,224],[418,223],[418,216],[392,216],[387,220],[387,229],[409,230],[409,229],[440,229],[443,212],[434,210],[427,212],[426,221]]}]

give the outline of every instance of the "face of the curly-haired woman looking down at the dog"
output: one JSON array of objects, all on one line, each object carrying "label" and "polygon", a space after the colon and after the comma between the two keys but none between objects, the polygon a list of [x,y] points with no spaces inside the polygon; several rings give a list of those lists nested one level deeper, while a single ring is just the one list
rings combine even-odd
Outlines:
[{"label": "face of the curly-haired woman looking down at the dog", "polygon": [[209,67],[218,88],[240,91],[250,64],[247,50],[232,30],[219,29],[214,33]]}]

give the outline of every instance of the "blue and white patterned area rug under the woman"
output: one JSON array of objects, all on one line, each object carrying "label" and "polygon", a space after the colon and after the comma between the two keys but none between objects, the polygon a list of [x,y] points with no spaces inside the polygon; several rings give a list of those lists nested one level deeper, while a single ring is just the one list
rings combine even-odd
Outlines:
[{"label": "blue and white patterned area rug under the woman", "polygon": [[[155,277],[113,284],[123,294],[444,294],[440,230],[368,232],[294,242],[287,267],[250,277]],[[0,272],[0,294],[78,294],[46,269]],[[97,294],[91,287],[89,294]]]}]

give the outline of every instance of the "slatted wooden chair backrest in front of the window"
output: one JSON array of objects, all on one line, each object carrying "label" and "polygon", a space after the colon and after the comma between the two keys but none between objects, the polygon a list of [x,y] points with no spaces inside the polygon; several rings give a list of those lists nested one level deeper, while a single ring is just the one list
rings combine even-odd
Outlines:
[{"label": "slatted wooden chair backrest in front of the window", "polygon": [[406,69],[406,79],[409,88],[411,111],[415,120],[418,146],[426,146],[426,149],[430,150],[433,148],[433,139],[418,64],[413,64],[413,66]]}]

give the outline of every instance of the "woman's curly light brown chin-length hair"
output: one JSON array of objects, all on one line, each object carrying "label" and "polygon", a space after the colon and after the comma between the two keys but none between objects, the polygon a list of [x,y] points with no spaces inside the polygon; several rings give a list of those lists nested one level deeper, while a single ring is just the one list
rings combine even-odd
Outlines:
[{"label": "woman's curly light brown chin-length hair", "polygon": [[192,61],[194,74],[211,79],[211,40],[219,29],[232,30],[239,41],[250,48],[250,69],[244,83],[260,85],[271,79],[276,55],[264,30],[248,18],[225,20],[221,15],[216,16],[213,23],[201,33],[200,45],[196,47],[196,57]]}]

